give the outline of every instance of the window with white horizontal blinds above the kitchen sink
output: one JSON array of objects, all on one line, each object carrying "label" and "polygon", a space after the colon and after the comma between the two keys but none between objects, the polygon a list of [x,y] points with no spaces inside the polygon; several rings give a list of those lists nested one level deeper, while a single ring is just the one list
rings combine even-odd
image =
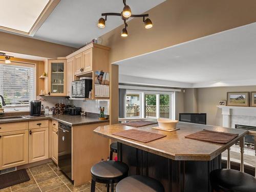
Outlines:
[{"label": "window with white horizontal blinds above the kitchen sink", "polygon": [[0,95],[6,105],[29,105],[35,93],[35,68],[0,63]]}]

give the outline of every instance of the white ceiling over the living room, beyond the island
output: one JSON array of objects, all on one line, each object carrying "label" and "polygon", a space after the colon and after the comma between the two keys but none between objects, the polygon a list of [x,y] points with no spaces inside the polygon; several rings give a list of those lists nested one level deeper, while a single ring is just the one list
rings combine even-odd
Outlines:
[{"label": "white ceiling over the living room, beyond the island", "polygon": [[255,48],[253,23],[116,64],[121,75],[190,83],[191,87],[227,86],[226,82],[256,85]]}]

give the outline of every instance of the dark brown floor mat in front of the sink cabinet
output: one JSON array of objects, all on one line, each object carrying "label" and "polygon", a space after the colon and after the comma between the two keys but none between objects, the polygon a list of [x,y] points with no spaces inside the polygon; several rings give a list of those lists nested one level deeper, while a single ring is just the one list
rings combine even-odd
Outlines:
[{"label": "dark brown floor mat in front of the sink cabinet", "polygon": [[16,170],[7,174],[0,175],[0,189],[10,187],[19,183],[29,181],[29,175],[26,169]]}]

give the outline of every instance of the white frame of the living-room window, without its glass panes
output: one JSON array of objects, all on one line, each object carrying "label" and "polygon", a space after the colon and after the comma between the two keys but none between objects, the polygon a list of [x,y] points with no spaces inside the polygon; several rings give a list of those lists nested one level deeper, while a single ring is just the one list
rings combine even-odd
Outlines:
[{"label": "white frame of the living-room window, without its glass panes", "polygon": [[[140,117],[129,117],[129,118],[146,118],[145,116],[145,94],[153,94],[156,95],[156,119],[163,118],[160,117],[160,95],[169,95],[169,118],[175,120],[176,118],[176,110],[175,110],[175,92],[164,92],[164,91],[136,91],[136,90],[127,90],[126,95],[129,94],[137,94],[140,95]],[[126,104],[125,104],[125,118],[126,117]]]}]

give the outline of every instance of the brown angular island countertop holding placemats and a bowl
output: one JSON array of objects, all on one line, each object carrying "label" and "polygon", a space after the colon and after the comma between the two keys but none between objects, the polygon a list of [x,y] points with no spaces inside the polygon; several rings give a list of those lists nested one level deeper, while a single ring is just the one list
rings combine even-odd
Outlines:
[{"label": "brown angular island countertop holding placemats and a bowl", "polygon": [[[157,124],[141,126],[141,127],[132,127],[123,124],[113,124],[113,125],[105,125],[99,126],[95,133],[115,140],[117,142],[130,145],[132,147],[139,148],[140,150],[150,152],[159,156],[163,156],[173,160],[194,160],[194,161],[210,161],[220,155],[222,152],[227,150],[230,146],[237,143],[241,138],[244,137],[248,133],[246,130],[238,130],[238,129],[230,129],[219,126],[211,126],[211,125],[201,125],[194,123],[184,123],[179,122],[177,124],[177,128],[180,130],[173,132],[166,132],[161,130],[152,129],[152,127],[157,126]],[[137,129],[141,131],[147,131],[152,133],[158,133],[166,135],[161,139],[157,139],[148,143],[139,142],[132,139],[127,139],[124,137],[113,135],[112,133],[129,130],[129,129]],[[235,133],[239,134],[238,137],[234,138],[227,144],[218,144],[218,143],[210,143],[204,142],[194,139],[185,138],[185,136],[196,133],[198,131],[202,131],[203,129],[212,130],[212,131],[220,131],[226,133]]]}]

